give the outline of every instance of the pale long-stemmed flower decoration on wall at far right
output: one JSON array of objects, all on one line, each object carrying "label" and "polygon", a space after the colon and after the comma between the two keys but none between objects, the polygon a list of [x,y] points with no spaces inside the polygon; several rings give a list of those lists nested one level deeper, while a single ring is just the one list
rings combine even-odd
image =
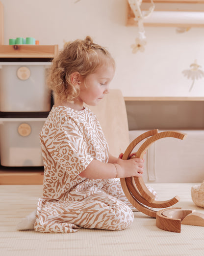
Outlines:
[{"label": "pale long-stemmed flower decoration on wall at far right", "polygon": [[197,64],[197,60],[195,60],[194,63],[190,65],[190,67],[190,69],[185,69],[182,71],[184,76],[187,76],[188,79],[193,80],[189,92],[191,92],[195,80],[204,77],[204,71],[202,69],[199,69],[199,67],[201,66]]}]

